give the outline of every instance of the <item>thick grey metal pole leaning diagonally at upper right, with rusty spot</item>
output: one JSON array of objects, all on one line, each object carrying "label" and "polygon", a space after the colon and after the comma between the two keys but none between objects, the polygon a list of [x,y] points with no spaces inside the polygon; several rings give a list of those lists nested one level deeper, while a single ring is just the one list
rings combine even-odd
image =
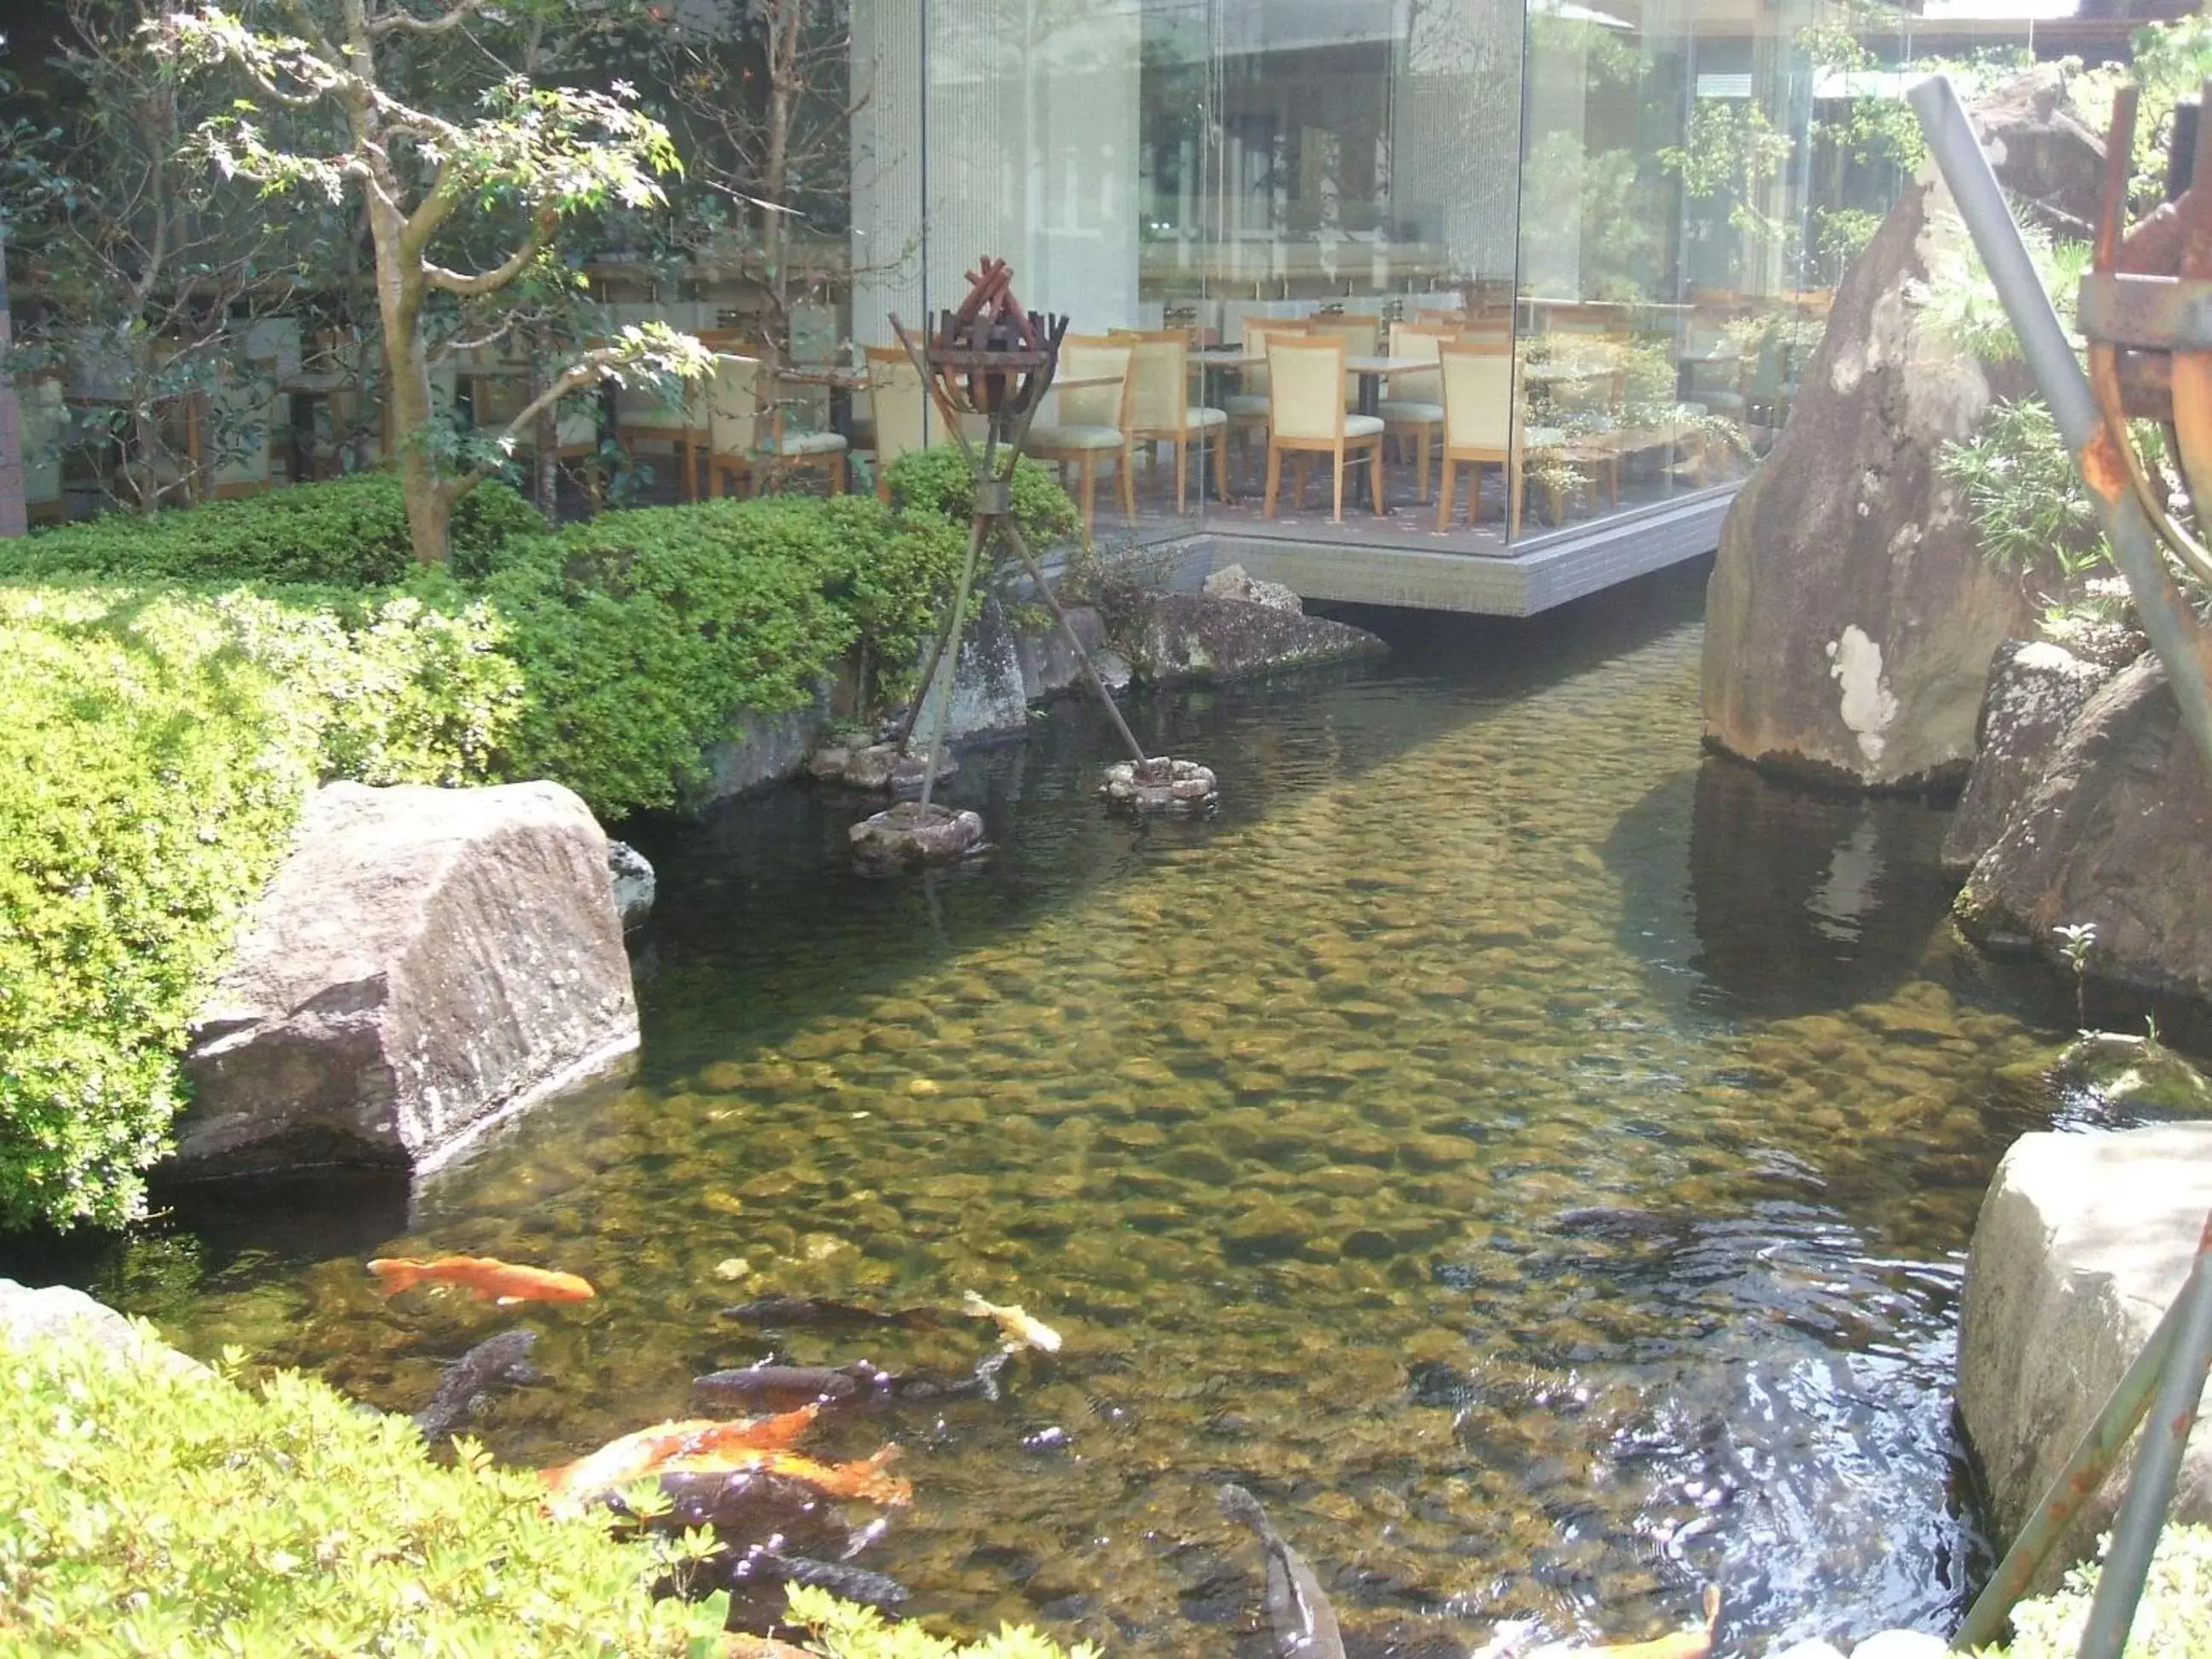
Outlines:
[{"label": "thick grey metal pole leaning diagonally at upper right, with rusty spot", "polygon": [[2066,330],[2059,327],[2051,296],[2044,294],[2028,250],[2020,241],[2011,208],[1997,188],[1997,175],[1989,170],[1966,111],[1958,102],[1958,91],[1944,75],[1929,75],[1907,93],[1920,128],[1927,133],[1936,166],[1942,168],[1951,199],[1960,219],[1973,234],[1973,246],[1997,285],[2004,314],[2020,336],[2020,349],[2051,403],[2059,436],[2075,456],[2097,518],[2104,522],[2106,540],[2112,544],[2112,562],[2128,577],[2135,608],[2150,635],[2152,650],[2166,664],[2181,706],[2181,723],[2197,741],[2197,750],[2212,770],[2212,641],[2199,641],[2197,619],[2190,615],[2181,591],[2166,568],[2166,553],[2143,515],[2141,502],[2128,484],[2128,471],[2110,449],[2097,400],[2090,396],[2088,376],[2073,354]]}]

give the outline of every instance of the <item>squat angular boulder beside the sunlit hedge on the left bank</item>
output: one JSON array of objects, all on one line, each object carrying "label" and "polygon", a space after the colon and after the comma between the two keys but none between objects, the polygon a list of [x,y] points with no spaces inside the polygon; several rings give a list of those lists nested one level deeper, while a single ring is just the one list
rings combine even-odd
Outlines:
[{"label": "squat angular boulder beside the sunlit hedge on the left bank", "polygon": [[170,1179],[422,1172],[622,1062],[606,834],[557,783],[332,783],[201,1011]]}]

